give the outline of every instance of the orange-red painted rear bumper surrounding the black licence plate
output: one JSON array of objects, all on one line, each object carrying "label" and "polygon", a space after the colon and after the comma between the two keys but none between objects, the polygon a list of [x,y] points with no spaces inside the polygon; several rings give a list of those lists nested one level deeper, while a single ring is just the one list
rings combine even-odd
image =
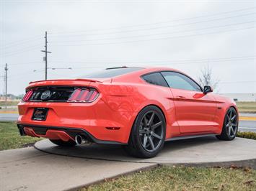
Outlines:
[{"label": "orange-red painted rear bumper surrounding the black licence plate", "polygon": [[[100,144],[127,144],[136,118],[134,112],[112,110],[100,98],[93,103],[22,102],[18,108],[17,124],[19,128],[27,127],[29,136],[74,139],[74,134],[81,133]],[[35,108],[48,108],[45,121],[32,120]]]}]

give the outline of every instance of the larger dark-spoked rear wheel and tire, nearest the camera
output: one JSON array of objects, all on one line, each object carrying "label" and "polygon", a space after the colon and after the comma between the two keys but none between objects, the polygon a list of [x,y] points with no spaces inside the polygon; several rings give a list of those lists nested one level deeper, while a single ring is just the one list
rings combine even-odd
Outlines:
[{"label": "larger dark-spoked rear wheel and tire, nearest the camera", "polygon": [[156,106],[147,106],[136,117],[125,151],[133,157],[155,157],[164,146],[165,134],[164,114]]}]

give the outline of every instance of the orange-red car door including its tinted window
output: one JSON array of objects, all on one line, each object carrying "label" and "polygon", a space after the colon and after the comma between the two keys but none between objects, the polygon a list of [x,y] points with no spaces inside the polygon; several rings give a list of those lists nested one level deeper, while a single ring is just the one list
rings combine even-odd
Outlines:
[{"label": "orange-red car door including its tinted window", "polygon": [[177,124],[185,134],[214,131],[216,100],[211,93],[203,93],[200,85],[182,73],[162,72],[175,104]]}]

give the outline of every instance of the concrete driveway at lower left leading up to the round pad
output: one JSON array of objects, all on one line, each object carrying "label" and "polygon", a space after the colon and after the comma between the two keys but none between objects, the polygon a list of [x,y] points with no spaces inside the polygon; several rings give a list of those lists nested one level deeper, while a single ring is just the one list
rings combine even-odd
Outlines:
[{"label": "concrete driveway at lower left leading up to the round pad", "polygon": [[0,152],[0,190],[70,190],[156,164],[46,154],[34,148]]}]

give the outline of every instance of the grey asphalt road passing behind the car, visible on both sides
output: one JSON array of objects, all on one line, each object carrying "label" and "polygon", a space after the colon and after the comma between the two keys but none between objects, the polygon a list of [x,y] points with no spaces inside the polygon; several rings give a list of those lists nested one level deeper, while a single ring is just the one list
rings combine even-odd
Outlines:
[{"label": "grey asphalt road passing behind the car, visible on both sides", "polygon": [[[246,115],[246,114],[245,114]],[[244,116],[244,114],[243,114]],[[253,115],[255,116],[255,114]],[[0,121],[16,121],[18,117],[17,113],[0,113]],[[256,120],[255,121],[239,121],[239,131],[253,131],[256,132]]]}]

